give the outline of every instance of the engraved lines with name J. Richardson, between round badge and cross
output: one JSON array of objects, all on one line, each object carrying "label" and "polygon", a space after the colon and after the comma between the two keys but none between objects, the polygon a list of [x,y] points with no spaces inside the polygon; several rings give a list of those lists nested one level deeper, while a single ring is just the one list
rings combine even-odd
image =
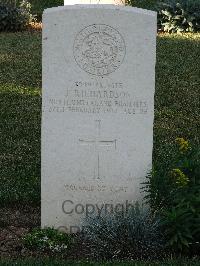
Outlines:
[{"label": "engraved lines with name J. Richardson, between round badge and cross", "polygon": [[123,83],[76,81],[64,95],[45,99],[43,111],[49,113],[145,115],[147,98],[135,97]]}]

